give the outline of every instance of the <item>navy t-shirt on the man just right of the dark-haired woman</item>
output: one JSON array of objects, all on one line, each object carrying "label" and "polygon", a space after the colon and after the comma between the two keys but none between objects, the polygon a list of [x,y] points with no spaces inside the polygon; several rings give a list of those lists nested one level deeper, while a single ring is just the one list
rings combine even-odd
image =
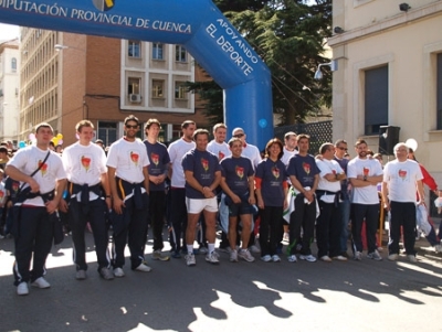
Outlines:
[{"label": "navy t-shirt on the man just right of the dark-haired woman", "polygon": [[313,188],[315,175],[320,173],[312,154],[295,154],[291,158],[287,167],[288,175],[295,175],[303,188]]}]

